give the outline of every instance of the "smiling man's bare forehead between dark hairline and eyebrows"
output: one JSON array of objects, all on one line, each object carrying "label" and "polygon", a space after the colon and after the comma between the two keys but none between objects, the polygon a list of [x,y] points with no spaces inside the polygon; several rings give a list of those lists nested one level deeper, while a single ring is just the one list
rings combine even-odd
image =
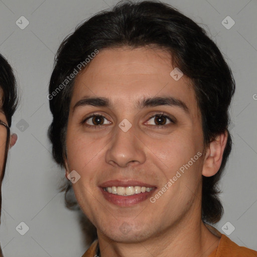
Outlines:
[{"label": "smiling man's bare forehead between dark hairline and eyebrows", "polygon": [[[132,104],[141,97],[172,96],[196,106],[190,80],[171,75],[172,56],[158,48],[129,47],[104,49],[75,79],[71,105],[83,95],[112,99],[119,105]],[[192,105],[192,106],[190,106]]]}]

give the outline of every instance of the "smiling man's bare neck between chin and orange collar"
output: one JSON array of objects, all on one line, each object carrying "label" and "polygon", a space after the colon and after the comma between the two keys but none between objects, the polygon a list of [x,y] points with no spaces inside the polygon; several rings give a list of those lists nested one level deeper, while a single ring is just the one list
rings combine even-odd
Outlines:
[{"label": "smiling man's bare neck between chin and orange collar", "polygon": [[220,238],[212,234],[201,219],[185,219],[136,243],[115,242],[97,231],[101,257],[155,256],[207,257],[218,246]]}]

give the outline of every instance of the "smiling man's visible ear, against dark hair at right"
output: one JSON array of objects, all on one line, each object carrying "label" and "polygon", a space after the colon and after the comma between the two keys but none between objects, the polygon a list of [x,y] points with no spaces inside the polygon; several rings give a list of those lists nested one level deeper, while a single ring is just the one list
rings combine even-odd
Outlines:
[{"label": "smiling man's visible ear, against dark hair at right", "polygon": [[206,154],[203,161],[203,176],[211,177],[218,172],[226,143],[227,131],[217,136],[206,148]]}]

